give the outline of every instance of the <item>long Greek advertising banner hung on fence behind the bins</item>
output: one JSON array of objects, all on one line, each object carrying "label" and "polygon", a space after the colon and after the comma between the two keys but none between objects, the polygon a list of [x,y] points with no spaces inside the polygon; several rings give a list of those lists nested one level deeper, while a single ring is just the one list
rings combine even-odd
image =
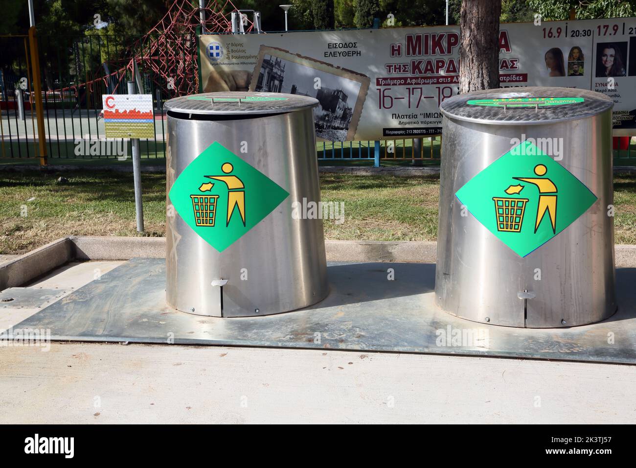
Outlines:
[{"label": "long Greek advertising banner hung on fence behind the bins", "polygon": [[[441,133],[459,92],[459,27],[200,36],[204,92],[318,99],[327,141]],[[636,18],[501,24],[501,87],[591,89],[614,99],[614,134],[636,134]]]}]

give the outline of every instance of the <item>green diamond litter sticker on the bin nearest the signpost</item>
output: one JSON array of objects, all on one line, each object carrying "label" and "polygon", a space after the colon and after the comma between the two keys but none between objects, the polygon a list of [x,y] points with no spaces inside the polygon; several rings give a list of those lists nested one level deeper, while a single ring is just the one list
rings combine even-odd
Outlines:
[{"label": "green diamond litter sticker on the bin nearest the signpost", "polygon": [[223,252],[289,193],[215,141],[188,164],[168,196],[188,226]]}]

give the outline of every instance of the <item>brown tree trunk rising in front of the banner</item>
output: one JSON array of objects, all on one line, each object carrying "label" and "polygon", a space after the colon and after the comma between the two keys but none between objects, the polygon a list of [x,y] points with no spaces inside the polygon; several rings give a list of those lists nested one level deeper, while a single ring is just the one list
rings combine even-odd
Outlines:
[{"label": "brown tree trunk rising in front of the banner", "polygon": [[463,0],[459,92],[499,88],[501,0]]}]

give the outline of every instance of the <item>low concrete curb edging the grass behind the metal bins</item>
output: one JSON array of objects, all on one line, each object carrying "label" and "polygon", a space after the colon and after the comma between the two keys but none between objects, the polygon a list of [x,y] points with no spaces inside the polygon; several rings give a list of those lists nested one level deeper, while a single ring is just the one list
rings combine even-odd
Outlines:
[{"label": "low concrete curb edging the grass behind the metal bins", "polygon": [[[165,258],[165,238],[71,236],[0,264],[0,290],[17,287],[73,260]],[[434,263],[434,241],[325,241],[331,262]],[[617,268],[636,267],[636,245],[616,245]]]}]

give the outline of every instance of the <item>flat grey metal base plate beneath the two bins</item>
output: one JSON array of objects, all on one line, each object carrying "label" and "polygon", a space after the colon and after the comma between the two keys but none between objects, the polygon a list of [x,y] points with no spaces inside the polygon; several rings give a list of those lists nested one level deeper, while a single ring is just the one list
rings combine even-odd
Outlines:
[{"label": "flat grey metal base plate beneath the two bins", "polygon": [[[388,269],[394,280],[388,280]],[[619,311],[570,329],[469,322],[434,303],[434,264],[330,263],[331,292],[299,311],[249,318],[190,315],[165,305],[165,260],[132,259],[13,329],[58,341],[329,348],[636,364],[636,269],[616,272]]]}]

